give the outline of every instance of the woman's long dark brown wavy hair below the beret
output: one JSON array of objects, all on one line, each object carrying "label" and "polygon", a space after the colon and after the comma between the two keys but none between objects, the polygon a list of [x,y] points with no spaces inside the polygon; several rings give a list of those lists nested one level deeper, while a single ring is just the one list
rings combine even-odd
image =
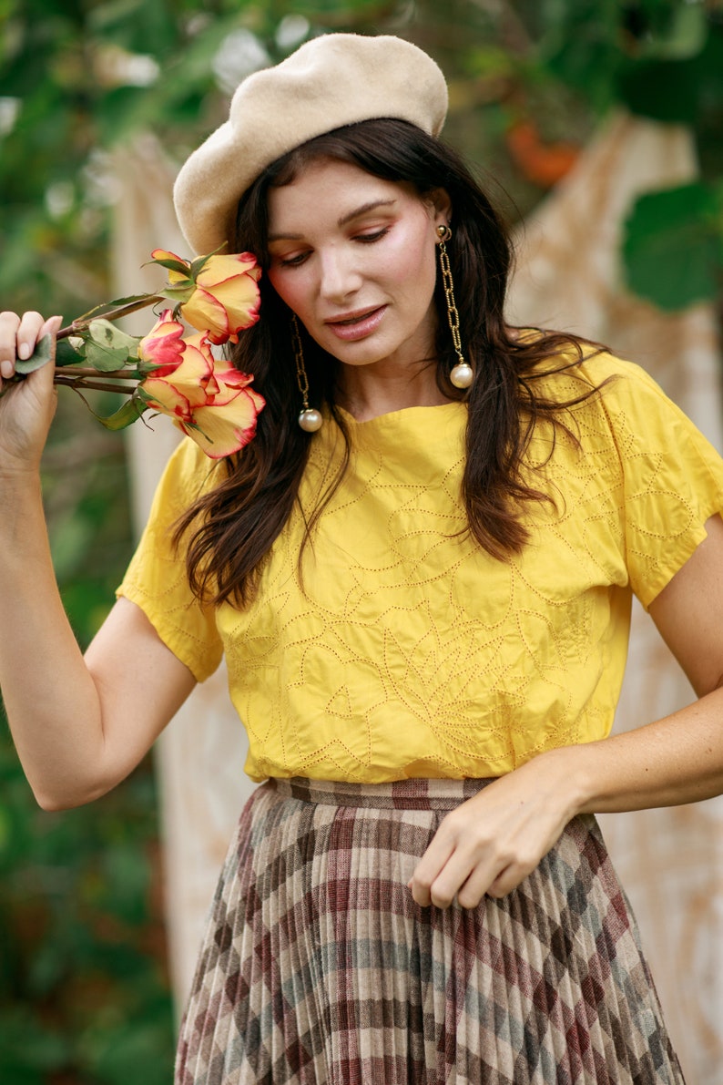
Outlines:
[{"label": "woman's long dark brown wavy hair below the beret", "polygon": [[[318,158],[351,163],[385,180],[411,184],[419,197],[444,189],[452,205],[453,238],[448,244],[463,349],[475,370],[468,393],[450,382],[457,358],[446,316],[438,270],[436,301],[437,383],[450,399],[466,398],[466,464],[462,483],[468,531],[480,547],[504,560],[528,538],[522,506],[548,500],[524,481],[522,457],[542,416],[559,422],[563,407],[582,401],[584,390],[566,404],[535,393],[534,383],[552,371],[573,368],[583,357],[580,341],[538,330],[518,335],[503,308],[512,264],[507,232],[462,158],[440,140],[404,120],[378,119],[348,125],[301,144],[272,163],[244,194],[236,224],[235,252],[248,250],[266,269],[267,196],[289,184]],[[222,461],[225,476],[181,518],[177,540],[188,532],[188,571],[193,590],[210,602],[249,602],[274,540],[288,520],[304,474],[311,435],[298,425],[301,399],[291,335],[291,311],[269,279],[260,280],[261,319],[233,348],[234,365],[254,374],[266,399],[255,439]],[[346,442],[346,458],[314,509],[305,509],[307,534],[338,486],[348,462],[349,442],[336,409],[338,362],[301,328],[309,401],[325,405]],[[561,357],[560,357],[561,356]],[[561,423],[560,423],[561,424]],[[305,541],[306,541],[305,539]],[[300,556],[299,556],[300,558]]]}]

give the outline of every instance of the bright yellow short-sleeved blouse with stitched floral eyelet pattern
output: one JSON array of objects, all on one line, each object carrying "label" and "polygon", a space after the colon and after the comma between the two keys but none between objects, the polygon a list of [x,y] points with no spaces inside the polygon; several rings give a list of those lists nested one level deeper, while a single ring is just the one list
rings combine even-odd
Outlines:
[{"label": "bright yellow short-sleeved blouse with stitched floral eyelet pattern", "polygon": [[[519,557],[464,535],[466,407],[347,419],[351,462],[297,559],[297,510],[244,611],[190,595],[170,525],[208,485],[190,441],[171,458],[119,595],[138,603],[198,680],[225,653],[231,699],[268,776],[383,782],[507,773],[610,730],[631,591],[648,605],[723,510],[723,462],[641,369],[608,355],[576,372],[599,394],[538,425]],[[572,373],[543,378],[559,400]],[[326,420],[301,488],[309,510],[341,456]]]}]

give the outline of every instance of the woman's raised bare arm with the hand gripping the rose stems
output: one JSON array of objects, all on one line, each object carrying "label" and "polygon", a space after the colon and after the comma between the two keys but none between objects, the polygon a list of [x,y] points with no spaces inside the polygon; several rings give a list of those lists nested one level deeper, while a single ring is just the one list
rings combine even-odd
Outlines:
[{"label": "woman's raised bare arm with the hand gripping the rose stems", "polygon": [[[44,331],[0,315],[0,373]],[[28,780],[46,808],[75,806],[122,779],[194,686],[142,611],[119,600],[80,652],[52,567],[39,463],[54,409],[52,367],[0,400],[0,689]]]}]

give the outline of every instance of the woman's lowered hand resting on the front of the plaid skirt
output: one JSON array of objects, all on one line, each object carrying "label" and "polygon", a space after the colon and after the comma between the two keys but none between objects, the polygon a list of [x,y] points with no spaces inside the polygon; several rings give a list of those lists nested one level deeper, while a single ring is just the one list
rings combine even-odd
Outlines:
[{"label": "woman's lowered hand resting on the front of the plaid skirt", "polygon": [[[569,749],[569,748],[568,748]],[[577,813],[568,757],[555,750],[482,788],[443,819],[409,882],[423,906],[475,908],[515,889]]]}]

